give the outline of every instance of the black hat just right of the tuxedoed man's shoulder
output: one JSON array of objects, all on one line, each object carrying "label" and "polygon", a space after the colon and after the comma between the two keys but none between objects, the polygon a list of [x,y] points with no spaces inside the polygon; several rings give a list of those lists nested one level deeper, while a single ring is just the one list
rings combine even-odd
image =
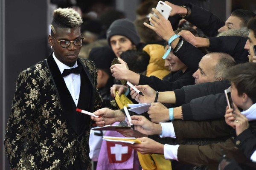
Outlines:
[{"label": "black hat just right of the tuxedoed man's shoulder", "polygon": [[116,58],[116,55],[109,46],[92,48],[88,57],[95,63],[97,68],[108,70],[108,73],[110,73],[109,68],[114,58]]}]

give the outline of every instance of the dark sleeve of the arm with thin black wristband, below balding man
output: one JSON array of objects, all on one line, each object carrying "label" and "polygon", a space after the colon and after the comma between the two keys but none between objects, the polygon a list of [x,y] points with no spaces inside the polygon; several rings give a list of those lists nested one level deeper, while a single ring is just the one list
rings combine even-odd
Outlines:
[{"label": "dark sleeve of the arm with thin black wristband, below balding man", "polygon": [[197,85],[187,85],[183,88],[174,90],[176,97],[176,106],[189,103],[192,99],[207,96],[209,94],[218,94],[224,92],[230,86],[228,80],[206,82]]}]

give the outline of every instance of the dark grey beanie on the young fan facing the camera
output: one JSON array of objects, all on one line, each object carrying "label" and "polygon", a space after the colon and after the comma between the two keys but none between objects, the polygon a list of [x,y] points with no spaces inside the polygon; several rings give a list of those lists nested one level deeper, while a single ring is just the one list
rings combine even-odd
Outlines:
[{"label": "dark grey beanie on the young fan facing the camera", "polygon": [[135,28],[134,23],[132,23],[128,19],[119,19],[115,20],[107,31],[107,40],[110,45],[110,38],[114,35],[122,35],[127,37],[134,45],[138,45],[140,43],[140,37]]}]

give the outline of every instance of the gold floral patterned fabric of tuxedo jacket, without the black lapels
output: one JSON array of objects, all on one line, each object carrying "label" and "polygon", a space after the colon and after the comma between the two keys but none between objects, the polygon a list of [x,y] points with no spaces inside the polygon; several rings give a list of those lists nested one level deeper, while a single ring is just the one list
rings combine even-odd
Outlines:
[{"label": "gold floral patterned fabric of tuxedo jacket, without the black lapels", "polygon": [[[96,87],[96,67],[81,60]],[[104,106],[95,91],[95,109]],[[109,105],[109,102],[108,102]],[[91,169],[89,128],[80,136],[67,125],[46,60],[22,71],[16,82],[12,111],[7,123],[4,145],[12,169],[59,170],[72,167],[77,152],[87,170]]]}]

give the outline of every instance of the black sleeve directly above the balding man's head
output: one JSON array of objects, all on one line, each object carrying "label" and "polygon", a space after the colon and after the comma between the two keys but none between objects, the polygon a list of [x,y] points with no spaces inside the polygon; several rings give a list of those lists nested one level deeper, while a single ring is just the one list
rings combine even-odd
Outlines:
[{"label": "black sleeve directly above the balding man's head", "polygon": [[230,54],[236,63],[248,62],[248,51],[244,49],[247,38],[239,36],[209,37],[208,51]]}]

